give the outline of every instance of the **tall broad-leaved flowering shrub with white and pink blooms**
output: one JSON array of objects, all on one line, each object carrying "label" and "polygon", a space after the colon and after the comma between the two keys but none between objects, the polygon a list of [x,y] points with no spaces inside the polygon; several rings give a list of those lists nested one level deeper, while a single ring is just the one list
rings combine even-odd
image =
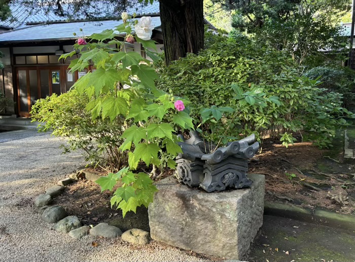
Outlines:
[{"label": "tall broad-leaved flowering shrub with white and pink blooms", "polygon": [[[122,17],[127,18],[127,15],[122,14]],[[122,184],[115,190],[111,205],[121,208],[123,215],[130,210],[135,212],[137,206],[148,206],[156,191],[150,178],[152,174],[134,171],[138,164],[153,165],[153,170],[165,164],[174,168],[173,158],[181,152],[176,131],[193,128],[192,119],[184,110],[184,104],[189,102],[157,89],[154,81],[158,75],[150,61],[139,53],[125,52],[123,40],[133,38],[156,60],[157,55],[148,50],[156,50],[154,41],[150,40],[152,29],[149,17],[142,17],[138,22],[127,18],[114,29],[92,34],[85,46],[79,42],[75,44],[81,56],[69,65],[71,71],[82,70],[92,60],[96,67],[73,87],[90,98],[86,109],[91,112],[92,119],[124,119],[121,135],[124,142],[120,150],[127,153],[128,166],[96,181],[102,191],[113,190],[117,184]],[[75,53],[64,54],[61,58]],[[181,102],[176,111],[174,103],[177,100]]]}]

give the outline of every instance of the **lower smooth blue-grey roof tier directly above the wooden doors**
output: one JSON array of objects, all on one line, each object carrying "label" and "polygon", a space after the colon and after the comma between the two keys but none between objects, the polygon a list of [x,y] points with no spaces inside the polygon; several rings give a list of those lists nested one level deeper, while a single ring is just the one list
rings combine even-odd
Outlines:
[{"label": "lower smooth blue-grey roof tier directly above the wooden doors", "polygon": [[[78,36],[82,35],[82,33],[84,33],[85,36],[89,36],[93,33],[99,33],[104,29],[112,29],[120,24],[122,24],[122,20],[31,25],[0,33],[0,44],[13,42],[36,42],[55,39],[77,39]],[[159,27],[160,17],[152,17],[152,24],[155,27]],[[83,32],[80,32],[79,28],[82,28]],[[74,36],[74,32],[76,32],[78,36]]]}]

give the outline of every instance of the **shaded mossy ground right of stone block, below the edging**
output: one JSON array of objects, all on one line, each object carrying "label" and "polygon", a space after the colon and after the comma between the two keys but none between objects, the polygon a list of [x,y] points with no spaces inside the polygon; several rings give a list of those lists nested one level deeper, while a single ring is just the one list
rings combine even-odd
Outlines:
[{"label": "shaded mossy ground right of stone block, below the edging", "polygon": [[265,215],[247,261],[353,262],[354,243],[354,231]]}]

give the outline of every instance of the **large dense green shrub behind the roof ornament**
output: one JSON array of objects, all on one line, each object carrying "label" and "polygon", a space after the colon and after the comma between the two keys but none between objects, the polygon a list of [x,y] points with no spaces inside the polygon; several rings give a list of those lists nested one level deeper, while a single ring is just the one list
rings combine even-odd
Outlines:
[{"label": "large dense green shrub behind the roof ornament", "polygon": [[341,95],[300,77],[301,68],[287,54],[247,40],[208,38],[208,48],[199,55],[157,65],[157,86],[192,102],[206,139],[227,142],[257,132],[288,145],[292,132],[304,130],[306,139],[328,146],[339,125],[346,124]]}]

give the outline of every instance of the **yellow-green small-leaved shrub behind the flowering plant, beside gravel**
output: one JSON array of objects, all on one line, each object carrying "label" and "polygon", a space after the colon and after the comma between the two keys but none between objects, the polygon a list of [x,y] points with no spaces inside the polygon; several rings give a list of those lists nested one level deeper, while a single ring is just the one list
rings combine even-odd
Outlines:
[{"label": "yellow-green small-leaved shrub behind the flowering plant, beside gravel", "polygon": [[39,130],[52,131],[58,137],[68,138],[64,152],[83,149],[86,161],[111,171],[120,170],[127,164],[127,155],[119,150],[123,139],[124,119],[116,117],[113,122],[98,117],[92,119],[85,109],[89,98],[76,90],[57,96],[53,94],[40,99],[31,110],[33,120],[44,123]]}]

